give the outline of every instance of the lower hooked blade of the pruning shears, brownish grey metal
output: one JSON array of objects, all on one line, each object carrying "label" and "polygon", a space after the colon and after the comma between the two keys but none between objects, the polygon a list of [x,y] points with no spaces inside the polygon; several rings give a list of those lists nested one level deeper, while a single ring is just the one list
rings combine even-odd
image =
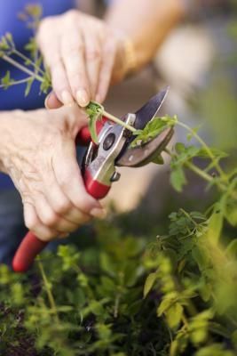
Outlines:
[{"label": "lower hooked blade of the pruning shears, brownish grey metal", "polygon": [[145,166],[161,155],[173,134],[173,128],[167,128],[145,145],[126,150],[122,157],[115,162],[115,166]]}]

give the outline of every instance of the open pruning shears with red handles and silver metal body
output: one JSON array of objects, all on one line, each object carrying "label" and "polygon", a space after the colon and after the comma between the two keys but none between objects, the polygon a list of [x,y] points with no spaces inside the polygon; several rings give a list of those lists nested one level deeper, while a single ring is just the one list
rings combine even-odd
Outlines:
[{"label": "open pruning shears with red handles and silver metal body", "polygon": [[[167,93],[168,88],[157,93],[136,113],[129,113],[122,117],[122,121],[138,130],[144,129],[162,107]],[[154,158],[161,155],[170,142],[173,128],[166,128],[151,141],[135,148],[130,148],[130,143],[136,136],[130,134],[124,126],[112,123],[107,117],[97,122],[97,134],[99,142],[92,142],[88,127],[84,127],[77,135],[76,143],[88,146],[82,165],[85,188],[92,197],[101,199],[107,196],[113,182],[120,178],[116,170],[117,166],[138,167],[152,162]],[[13,258],[13,270],[28,271],[36,255],[46,247],[47,243],[28,231]]]}]

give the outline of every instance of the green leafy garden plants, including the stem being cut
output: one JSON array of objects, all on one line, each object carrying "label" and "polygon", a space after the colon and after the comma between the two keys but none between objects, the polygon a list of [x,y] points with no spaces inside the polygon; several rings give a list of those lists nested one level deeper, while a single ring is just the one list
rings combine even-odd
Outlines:
[{"label": "green leafy garden plants, including the stem being cut", "polygon": [[[25,17],[35,26],[40,15],[30,6]],[[34,37],[26,49],[28,57],[11,34],[1,39],[1,58],[26,73],[20,80],[26,95],[34,81],[47,93],[51,79]],[[3,89],[17,84],[10,72],[1,79]],[[86,112],[94,141],[101,115],[124,125],[96,102]],[[1,265],[1,355],[236,355],[236,162],[178,117],[157,117],[139,132],[127,129],[139,145],[168,125],[186,130],[186,144],[164,153],[173,189],[185,190],[191,171],[213,193],[211,201],[201,212],[180,203],[162,227],[148,230],[112,209],[72,244],[40,255],[27,274]]]}]

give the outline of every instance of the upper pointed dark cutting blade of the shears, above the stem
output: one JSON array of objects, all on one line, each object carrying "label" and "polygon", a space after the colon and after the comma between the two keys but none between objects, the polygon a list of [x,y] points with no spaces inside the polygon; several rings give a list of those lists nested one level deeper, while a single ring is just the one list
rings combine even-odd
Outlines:
[{"label": "upper pointed dark cutting blade of the shears, above the stem", "polygon": [[135,112],[136,119],[134,127],[137,130],[142,130],[146,124],[151,121],[162,107],[162,103],[165,100],[167,93],[169,92],[169,86],[162,89],[161,92],[154,95],[146,104]]}]

